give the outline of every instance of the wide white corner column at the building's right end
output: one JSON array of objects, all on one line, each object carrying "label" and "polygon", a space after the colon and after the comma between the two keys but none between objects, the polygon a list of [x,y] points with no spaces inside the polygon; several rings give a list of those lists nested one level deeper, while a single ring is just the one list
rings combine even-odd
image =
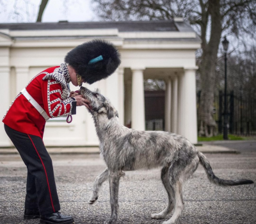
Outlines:
[{"label": "wide white corner column at the building's right end", "polygon": [[196,118],[196,75],[195,69],[185,69],[181,83],[182,113],[180,134],[188,138],[191,143],[197,143]]}]

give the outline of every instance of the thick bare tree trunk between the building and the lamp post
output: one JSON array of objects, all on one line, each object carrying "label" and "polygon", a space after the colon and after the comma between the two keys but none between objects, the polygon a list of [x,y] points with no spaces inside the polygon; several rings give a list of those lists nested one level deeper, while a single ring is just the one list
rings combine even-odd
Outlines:
[{"label": "thick bare tree trunk between the building and the lamp post", "polygon": [[211,15],[211,36],[209,43],[202,45],[203,54],[199,65],[202,81],[199,105],[199,136],[212,136],[216,129],[216,122],[213,118],[213,102],[215,67],[222,31],[220,0],[209,0],[209,15]]}]

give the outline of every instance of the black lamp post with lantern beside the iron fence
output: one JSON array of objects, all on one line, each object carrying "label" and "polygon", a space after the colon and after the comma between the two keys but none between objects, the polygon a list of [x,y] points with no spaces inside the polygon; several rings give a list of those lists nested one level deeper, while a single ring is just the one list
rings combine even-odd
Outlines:
[{"label": "black lamp post with lantern beside the iron fence", "polygon": [[223,126],[223,139],[228,140],[228,111],[227,111],[227,51],[228,51],[228,40],[224,36],[222,41],[223,49],[225,52],[225,90],[224,90],[224,126]]}]

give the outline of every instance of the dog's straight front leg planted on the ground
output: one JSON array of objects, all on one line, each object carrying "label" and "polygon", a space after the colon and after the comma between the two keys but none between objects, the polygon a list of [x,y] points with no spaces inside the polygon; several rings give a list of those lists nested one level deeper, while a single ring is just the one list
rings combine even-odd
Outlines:
[{"label": "dog's straight front leg planted on the ground", "polygon": [[110,206],[111,206],[111,216],[104,222],[104,224],[113,224],[116,223],[118,217],[118,188],[119,180],[124,173],[120,172],[109,172],[109,189],[110,189]]}]

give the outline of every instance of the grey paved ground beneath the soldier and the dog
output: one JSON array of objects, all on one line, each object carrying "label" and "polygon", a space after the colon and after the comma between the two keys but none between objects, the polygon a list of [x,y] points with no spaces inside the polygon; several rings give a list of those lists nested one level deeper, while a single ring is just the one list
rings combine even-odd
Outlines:
[{"label": "grey paved ground beneath the soldier and the dog", "polygon": [[[222,144],[222,145],[221,145]],[[228,145],[231,144],[231,145]],[[233,145],[232,145],[233,144]],[[248,145],[249,144],[249,145]],[[256,141],[252,143],[216,143],[236,148],[241,154],[205,154],[214,173],[224,179],[256,181]],[[108,182],[103,184],[99,202],[87,203],[93,180],[104,170],[97,154],[52,154],[61,212],[72,214],[77,223],[103,223],[109,216]],[[150,214],[167,203],[160,180],[160,169],[126,172],[120,184],[118,223],[161,223]],[[16,154],[0,154],[0,223],[38,223],[23,221],[26,167]],[[179,224],[256,223],[256,186],[220,188],[211,184],[202,166],[184,186],[185,211]]]}]

